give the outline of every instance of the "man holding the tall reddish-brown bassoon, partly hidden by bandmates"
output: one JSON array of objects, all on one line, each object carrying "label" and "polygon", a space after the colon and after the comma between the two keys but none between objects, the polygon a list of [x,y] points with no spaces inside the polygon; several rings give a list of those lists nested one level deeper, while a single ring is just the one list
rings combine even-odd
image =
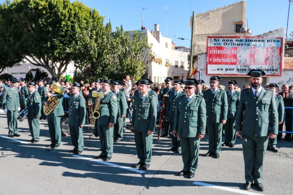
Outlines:
[{"label": "man holding the tall reddish-brown bassoon, partly hidden by bandmates", "polygon": [[[172,86],[172,80],[173,78],[171,77],[167,77],[164,81],[165,81],[165,84],[166,84],[166,88],[163,88],[163,90],[161,91],[160,93],[160,98],[164,101],[164,98],[165,98],[165,107],[167,106],[167,103],[168,103],[168,99],[169,99],[169,96],[168,94],[169,93],[173,93],[174,92],[174,89],[173,89],[173,86]],[[164,133],[161,135],[161,137],[166,137],[169,135],[169,121],[166,120],[166,117],[167,116],[167,111],[166,109],[164,109],[164,112],[163,112],[163,118],[164,118]]]}]

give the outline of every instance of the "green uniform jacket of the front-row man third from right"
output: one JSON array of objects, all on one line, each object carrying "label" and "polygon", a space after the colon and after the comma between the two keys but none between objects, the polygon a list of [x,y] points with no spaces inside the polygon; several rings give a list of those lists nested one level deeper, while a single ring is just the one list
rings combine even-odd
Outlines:
[{"label": "green uniform jacket of the front-row man third from right", "polygon": [[157,118],[157,103],[157,98],[149,93],[142,100],[140,96],[135,96],[131,122],[131,126],[134,126],[134,131],[154,131]]}]

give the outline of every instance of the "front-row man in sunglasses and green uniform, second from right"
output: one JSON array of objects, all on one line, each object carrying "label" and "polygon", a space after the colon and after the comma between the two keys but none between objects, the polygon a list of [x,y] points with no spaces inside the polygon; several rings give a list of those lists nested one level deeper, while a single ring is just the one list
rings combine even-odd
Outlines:
[{"label": "front-row man in sunglasses and green uniform, second from right", "polygon": [[185,93],[178,97],[174,113],[174,136],[179,136],[183,170],[178,176],[188,174],[193,178],[198,165],[200,139],[205,136],[206,105],[201,96],[195,95],[196,79],[185,81]]}]

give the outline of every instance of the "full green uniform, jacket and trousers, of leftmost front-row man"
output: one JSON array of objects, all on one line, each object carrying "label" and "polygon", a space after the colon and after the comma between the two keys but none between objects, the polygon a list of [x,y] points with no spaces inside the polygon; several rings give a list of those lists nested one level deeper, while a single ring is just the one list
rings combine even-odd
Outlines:
[{"label": "full green uniform, jacket and trousers, of leftmost front-row man", "polygon": [[18,134],[17,113],[20,108],[17,87],[5,87],[2,92],[2,108],[7,110],[8,135]]}]

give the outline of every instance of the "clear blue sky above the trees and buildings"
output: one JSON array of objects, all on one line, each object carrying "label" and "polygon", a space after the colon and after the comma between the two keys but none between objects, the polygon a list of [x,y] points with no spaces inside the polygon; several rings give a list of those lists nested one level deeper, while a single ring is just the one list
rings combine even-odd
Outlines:
[{"label": "clear blue sky above the trees and buildings", "polygon": [[[100,15],[109,19],[113,30],[122,24],[124,30],[138,30],[142,25],[142,8],[144,10],[144,26],[154,29],[154,24],[159,24],[160,31],[166,36],[166,10],[167,10],[167,36],[172,38],[177,46],[190,46],[188,40],[179,40],[178,37],[190,39],[191,28],[189,25],[192,11],[195,14],[237,2],[237,0],[84,0],[86,6],[96,8]],[[262,34],[287,25],[288,0],[247,0],[246,18],[248,28],[253,35]],[[291,3],[288,25],[289,32],[293,30],[293,3]]]}]

